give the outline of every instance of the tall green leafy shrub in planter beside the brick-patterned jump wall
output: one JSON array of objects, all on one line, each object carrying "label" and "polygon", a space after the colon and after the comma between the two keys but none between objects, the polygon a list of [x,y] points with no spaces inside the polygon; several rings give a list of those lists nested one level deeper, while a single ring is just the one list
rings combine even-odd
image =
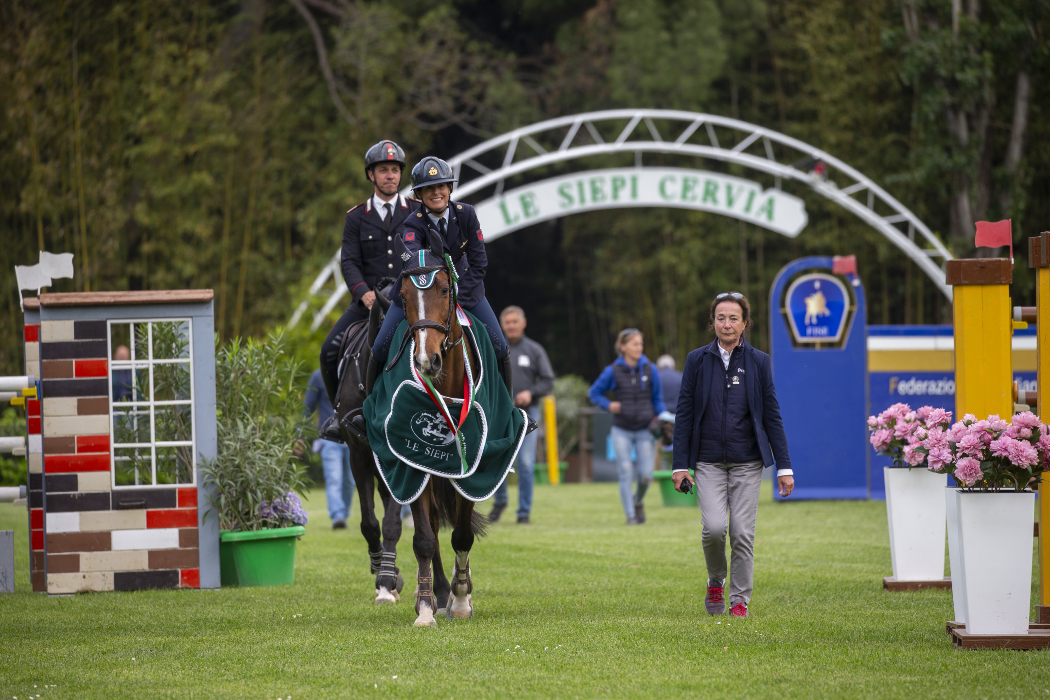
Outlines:
[{"label": "tall green leafy shrub in planter beside the brick-patterned jump wall", "polygon": [[218,455],[201,473],[214,489],[206,517],[217,513],[222,529],[280,527],[268,505],[304,493],[306,467],[292,451],[307,420],[303,377],[282,331],[266,340],[234,338],[217,349]]}]

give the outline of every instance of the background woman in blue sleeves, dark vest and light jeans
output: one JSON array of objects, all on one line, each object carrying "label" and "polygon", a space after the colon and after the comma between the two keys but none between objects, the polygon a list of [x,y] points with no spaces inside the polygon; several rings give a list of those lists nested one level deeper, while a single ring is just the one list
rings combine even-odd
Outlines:
[{"label": "background woman in blue sleeves, dark vest and light jeans", "polygon": [[[653,418],[667,410],[656,367],[642,352],[642,332],[624,328],[616,336],[616,360],[602,370],[587,393],[598,408],[613,415],[612,448],[616,452],[620,471],[620,499],[624,503],[628,525],[646,522],[646,490],[653,480],[653,436],[649,424]],[[606,398],[612,391],[614,401]],[[631,447],[637,462],[637,491],[631,495],[635,481],[631,465]]]}]

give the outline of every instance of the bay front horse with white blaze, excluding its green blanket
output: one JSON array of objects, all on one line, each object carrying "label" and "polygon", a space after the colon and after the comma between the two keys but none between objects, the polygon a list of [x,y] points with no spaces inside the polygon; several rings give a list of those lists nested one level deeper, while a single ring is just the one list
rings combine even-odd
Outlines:
[{"label": "bay front horse with white blaze, excluding its green blanket", "polygon": [[[437,250],[442,249],[439,243]],[[470,362],[472,368],[480,363],[474,348],[465,340],[456,315],[450,274],[447,268],[433,268],[437,274],[434,283],[426,289],[417,289],[408,276],[429,272],[428,268],[401,273],[404,312],[410,323],[406,335],[415,340],[412,362],[442,396],[463,399],[465,362]],[[460,343],[466,343],[466,354],[449,352]],[[477,376],[477,372],[474,375]],[[418,617],[415,625],[436,627],[435,614],[442,610],[448,619],[472,617],[470,548],[476,536],[485,534],[487,519],[475,511],[475,503],[460,494],[449,480],[435,475],[412,503],[412,516],[416,523],[412,548],[419,563],[416,590]],[[443,523],[453,526],[452,545],[456,559],[450,584],[441,565],[438,544],[438,531]]]}]

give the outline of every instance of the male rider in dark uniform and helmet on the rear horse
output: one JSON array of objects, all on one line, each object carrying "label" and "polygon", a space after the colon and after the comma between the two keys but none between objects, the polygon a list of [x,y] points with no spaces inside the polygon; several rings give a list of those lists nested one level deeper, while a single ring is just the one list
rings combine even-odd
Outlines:
[{"label": "male rider in dark uniform and helmet on the rear horse", "polygon": [[[342,229],[342,276],[350,290],[351,304],[324,339],[320,357],[321,379],[332,405],[339,388],[342,334],[351,323],[369,318],[379,280],[397,278],[401,272],[401,260],[394,253],[394,236],[401,233],[405,218],[419,206],[398,194],[404,164],[404,151],[393,141],[380,141],[370,148],[364,154],[364,174],[375,192],[346,212]],[[326,423],[321,437],[343,442],[334,418]]]}]

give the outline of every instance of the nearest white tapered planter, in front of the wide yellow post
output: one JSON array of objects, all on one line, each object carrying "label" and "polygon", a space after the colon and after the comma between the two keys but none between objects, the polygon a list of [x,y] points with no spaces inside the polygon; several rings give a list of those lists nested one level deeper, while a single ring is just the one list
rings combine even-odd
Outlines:
[{"label": "nearest white tapered planter, in front of the wide yellow post", "polygon": [[1035,494],[957,491],[956,503],[966,632],[1028,634]]}]

